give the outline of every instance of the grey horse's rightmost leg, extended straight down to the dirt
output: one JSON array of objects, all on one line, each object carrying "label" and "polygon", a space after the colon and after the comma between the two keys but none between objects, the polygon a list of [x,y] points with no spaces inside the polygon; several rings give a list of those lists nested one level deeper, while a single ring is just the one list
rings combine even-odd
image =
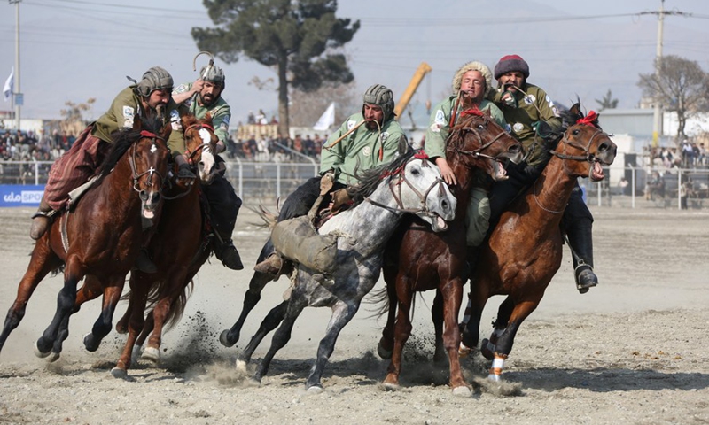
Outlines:
[{"label": "grey horse's rightmost leg, extended straight down to the dirt", "polygon": [[[320,380],[323,376],[325,365],[327,365],[327,361],[330,359],[330,356],[335,349],[335,343],[338,340],[339,332],[342,328],[345,328],[347,323],[349,323],[349,321],[351,321],[354,317],[354,314],[357,313],[360,302],[361,300],[354,300],[353,302],[347,304],[340,301],[332,307],[332,316],[330,318],[330,322],[328,323],[327,329],[325,330],[325,336],[320,341],[320,345],[317,347],[316,363],[313,365],[313,368],[310,369],[308,381],[305,383],[306,390],[310,392],[319,392],[323,390],[323,384]],[[286,320],[288,320],[287,316],[284,323]],[[281,329],[278,328],[278,330]],[[273,337],[276,339],[276,335]],[[395,349],[396,343],[394,342],[394,350]]]}]

